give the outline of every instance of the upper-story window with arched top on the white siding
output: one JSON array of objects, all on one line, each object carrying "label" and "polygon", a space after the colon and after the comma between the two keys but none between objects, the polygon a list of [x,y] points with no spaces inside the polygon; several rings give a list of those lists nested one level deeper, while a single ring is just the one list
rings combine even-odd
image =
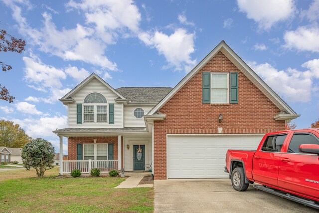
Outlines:
[{"label": "upper-story window with arched top on the white siding", "polygon": [[100,93],[91,93],[83,101],[83,121],[87,123],[107,122],[107,109],[106,98]]}]

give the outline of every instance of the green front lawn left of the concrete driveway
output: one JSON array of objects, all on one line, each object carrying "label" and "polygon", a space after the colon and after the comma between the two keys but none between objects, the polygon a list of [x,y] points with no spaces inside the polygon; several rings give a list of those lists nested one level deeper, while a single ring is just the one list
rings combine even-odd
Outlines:
[{"label": "green front lawn left of the concrete driveway", "polygon": [[[58,168],[45,172],[57,174]],[[153,212],[153,188],[114,189],[124,178],[12,179],[23,175],[36,176],[0,172],[0,212]]]}]

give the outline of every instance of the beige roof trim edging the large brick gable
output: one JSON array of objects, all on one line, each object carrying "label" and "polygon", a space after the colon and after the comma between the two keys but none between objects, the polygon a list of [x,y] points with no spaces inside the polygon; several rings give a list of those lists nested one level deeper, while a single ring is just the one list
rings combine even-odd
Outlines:
[{"label": "beige roof trim edging the large brick gable", "polygon": [[[200,61],[149,113],[155,114],[171,97],[173,97],[211,58],[221,51],[250,81],[254,83],[283,113],[285,119],[299,117],[297,113],[271,89],[227,44],[221,41],[202,61]],[[287,116],[287,115],[290,115]],[[280,117],[281,115],[279,115]],[[282,119],[282,120],[285,120]],[[280,120],[278,118],[277,120]]]}]

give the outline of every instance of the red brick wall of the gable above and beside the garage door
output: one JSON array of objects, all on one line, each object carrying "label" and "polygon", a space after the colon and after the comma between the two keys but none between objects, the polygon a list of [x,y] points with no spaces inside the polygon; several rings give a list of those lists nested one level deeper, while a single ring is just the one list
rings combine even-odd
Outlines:
[{"label": "red brick wall of the gable above and beside the garage door", "polygon": [[[238,72],[238,104],[202,104],[202,72]],[[166,179],[166,134],[267,133],[285,129],[280,110],[222,53],[218,52],[160,110],[154,123],[155,179]],[[222,113],[223,121],[218,116]]]}]

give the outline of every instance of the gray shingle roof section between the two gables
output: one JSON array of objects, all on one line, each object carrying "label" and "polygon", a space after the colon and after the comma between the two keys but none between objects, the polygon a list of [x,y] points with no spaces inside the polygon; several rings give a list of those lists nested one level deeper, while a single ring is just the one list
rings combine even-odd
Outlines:
[{"label": "gray shingle roof section between the two gables", "polygon": [[127,98],[131,103],[159,103],[171,87],[120,87],[118,93]]}]

